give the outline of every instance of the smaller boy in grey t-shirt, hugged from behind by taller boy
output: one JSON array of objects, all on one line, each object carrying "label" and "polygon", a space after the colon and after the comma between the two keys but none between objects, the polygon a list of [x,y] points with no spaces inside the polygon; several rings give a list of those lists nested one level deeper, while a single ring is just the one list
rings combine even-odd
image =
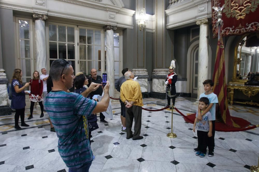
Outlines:
[{"label": "smaller boy in grey t-shirt, hugged from behind by taller boy", "polygon": [[[200,112],[204,112],[208,107],[209,99],[207,97],[202,97],[199,100]],[[205,157],[207,152],[208,138],[212,136],[212,117],[211,113],[208,111],[202,116],[202,120],[198,120],[198,110],[196,112],[196,118],[193,124],[193,132],[195,128],[197,129],[198,136],[198,149],[195,155],[200,157]]]}]

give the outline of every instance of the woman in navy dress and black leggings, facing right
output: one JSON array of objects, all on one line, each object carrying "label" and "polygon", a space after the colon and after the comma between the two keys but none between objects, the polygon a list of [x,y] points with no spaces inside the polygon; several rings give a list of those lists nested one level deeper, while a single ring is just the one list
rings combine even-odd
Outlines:
[{"label": "woman in navy dress and black leggings, facing right", "polygon": [[24,111],[25,111],[25,92],[24,89],[29,86],[30,83],[26,83],[23,85],[21,77],[23,76],[23,72],[21,69],[15,69],[13,71],[12,78],[12,101],[11,108],[15,109],[15,129],[21,129],[18,125],[19,117],[21,117],[21,126],[29,127],[29,125],[24,122]]}]

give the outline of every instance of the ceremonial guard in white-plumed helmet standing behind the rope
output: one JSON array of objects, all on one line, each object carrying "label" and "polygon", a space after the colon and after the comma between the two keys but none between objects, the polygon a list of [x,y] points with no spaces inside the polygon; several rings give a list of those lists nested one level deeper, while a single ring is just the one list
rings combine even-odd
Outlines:
[{"label": "ceremonial guard in white-plumed helmet standing behind the rope", "polygon": [[175,98],[176,98],[175,83],[177,81],[177,74],[174,72],[174,70],[175,70],[175,61],[172,60],[171,65],[169,67],[169,74],[166,76],[166,81],[164,83],[167,86],[167,106],[170,105],[171,97],[172,97],[172,102],[175,105]]}]

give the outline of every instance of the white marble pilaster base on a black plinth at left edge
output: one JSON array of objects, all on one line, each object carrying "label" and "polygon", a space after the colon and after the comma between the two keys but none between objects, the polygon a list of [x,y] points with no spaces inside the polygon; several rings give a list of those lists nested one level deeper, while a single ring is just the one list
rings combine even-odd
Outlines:
[{"label": "white marble pilaster base on a black plinth at left edge", "polygon": [[0,116],[12,114],[11,108],[8,105],[8,79],[4,71],[4,69],[0,69]]}]

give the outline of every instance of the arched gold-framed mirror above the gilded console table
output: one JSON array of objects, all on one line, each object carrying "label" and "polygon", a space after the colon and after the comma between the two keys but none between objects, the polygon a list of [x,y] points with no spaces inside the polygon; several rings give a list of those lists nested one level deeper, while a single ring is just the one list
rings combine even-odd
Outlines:
[{"label": "arched gold-framed mirror above the gilded console table", "polygon": [[259,32],[245,34],[235,46],[232,81],[247,82],[259,71]]}]

